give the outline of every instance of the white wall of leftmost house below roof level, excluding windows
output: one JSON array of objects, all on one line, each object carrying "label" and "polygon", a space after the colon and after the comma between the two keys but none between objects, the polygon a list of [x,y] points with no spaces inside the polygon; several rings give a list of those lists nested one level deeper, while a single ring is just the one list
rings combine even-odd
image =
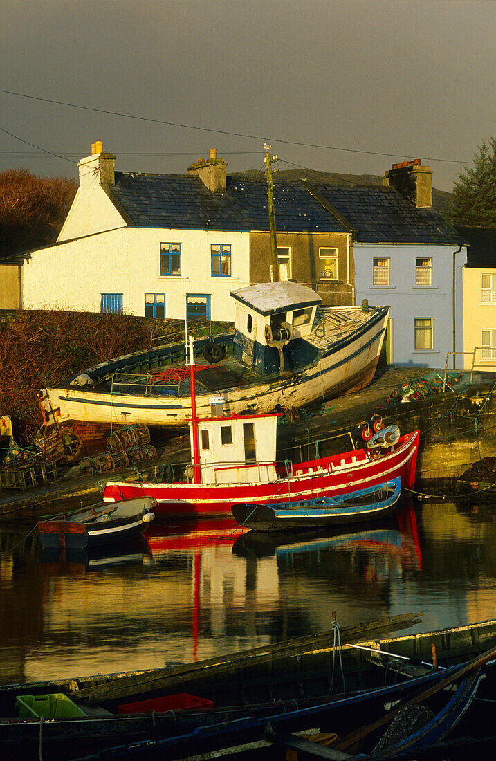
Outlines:
[{"label": "white wall of leftmost house below roof level, excluding windows", "polygon": [[[103,191],[102,191],[103,192]],[[181,275],[161,276],[161,243],[181,244]],[[211,276],[211,244],[231,245],[231,277]],[[230,291],[250,285],[250,234],[121,228],[37,251],[24,264],[25,309],[100,311],[122,293],[124,311],[145,314],[145,293],[165,294],[165,316],[183,320],[186,295],[211,298],[212,320],[234,320]]]}]

